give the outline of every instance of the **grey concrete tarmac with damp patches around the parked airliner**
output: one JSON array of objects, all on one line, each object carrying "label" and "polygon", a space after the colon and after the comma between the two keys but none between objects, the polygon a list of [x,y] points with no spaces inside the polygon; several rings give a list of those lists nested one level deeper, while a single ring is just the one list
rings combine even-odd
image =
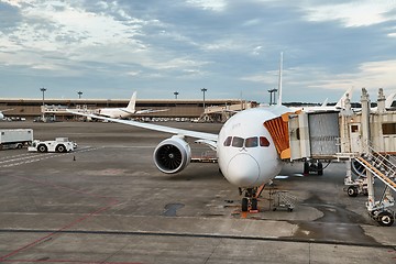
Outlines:
[{"label": "grey concrete tarmac with damp patches around the parked airliner", "polygon": [[[289,196],[293,211],[265,191],[260,211],[244,215],[217,164],[156,169],[153,151],[168,134],[101,122],[0,128],[78,144],[70,153],[0,151],[0,263],[396,263],[395,224],[380,227],[365,196],[343,191],[343,163],[305,177],[300,163],[286,164],[282,175],[290,177],[273,188]],[[191,147],[196,157],[213,154]]]}]

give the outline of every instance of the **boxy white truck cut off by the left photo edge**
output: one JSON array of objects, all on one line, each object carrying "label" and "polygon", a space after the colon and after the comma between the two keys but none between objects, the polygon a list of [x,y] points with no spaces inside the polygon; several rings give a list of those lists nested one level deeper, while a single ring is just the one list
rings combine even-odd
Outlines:
[{"label": "boxy white truck cut off by the left photo edge", "polygon": [[0,150],[3,148],[22,148],[33,141],[32,129],[10,129],[0,130]]}]

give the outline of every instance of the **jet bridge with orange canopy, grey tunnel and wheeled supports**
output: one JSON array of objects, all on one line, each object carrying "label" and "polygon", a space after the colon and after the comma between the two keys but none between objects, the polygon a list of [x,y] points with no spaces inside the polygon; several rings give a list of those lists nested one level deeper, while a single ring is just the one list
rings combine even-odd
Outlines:
[{"label": "jet bridge with orange canopy, grey tunnel and wheeled supports", "polygon": [[[369,196],[367,210],[382,226],[392,226],[396,191],[396,111],[385,109],[383,90],[377,108],[371,109],[367,91],[362,89],[362,109],[352,110],[346,97],[345,108],[333,111],[287,113],[266,121],[264,127],[274,139],[282,160],[304,161],[304,173],[322,174],[320,161],[346,162],[345,190],[351,197]],[[352,178],[353,170],[359,177]],[[373,177],[385,186],[375,200]]]}]

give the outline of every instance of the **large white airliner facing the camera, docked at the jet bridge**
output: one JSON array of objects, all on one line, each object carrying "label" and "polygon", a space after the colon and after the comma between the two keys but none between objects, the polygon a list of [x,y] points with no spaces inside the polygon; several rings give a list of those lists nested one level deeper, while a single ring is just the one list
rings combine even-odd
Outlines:
[{"label": "large white airliner facing the camera, docked at the jet bridge", "polygon": [[198,139],[197,143],[216,150],[223,176],[232,185],[239,187],[240,193],[244,195],[242,211],[246,211],[249,206],[252,210],[257,209],[258,187],[271,183],[282,168],[275,142],[264,127],[264,122],[276,119],[290,110],[278,102],[273,107],[241,111],[224,123],[219,134],[70,112],[174,134],[161,142],[153,155],[156,167],[165,174],[182,172],[189,164],[191,151],[185,138]]}]

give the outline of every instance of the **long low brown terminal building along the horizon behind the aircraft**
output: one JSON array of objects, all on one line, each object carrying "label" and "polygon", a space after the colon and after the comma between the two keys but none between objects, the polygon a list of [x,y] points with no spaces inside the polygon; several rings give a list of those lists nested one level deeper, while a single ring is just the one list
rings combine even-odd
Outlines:
[{"label": "long low brown terminal building along the horizon behind the aircraft", "polygon": [[[54,117],[56,120],[73,119],[73,114],[66,109],[95,110],[98,108],[124,108],[129,99],[9,99],[0,98],[0,111],[8,110],[4,116],[8,118],[35,119],[43,113],[47,117]],[[240,99],[218,99],[206,100],[205,108],[207,112],[213,112],[213,109],[224,110],[230,107],[232,110],[241,110],[255,107],[255,102],[241,101]],[[204,101],[196,99],[138,99],[136,110],[163,110],[155,113],[139,114],[141,118],[200,118],[204,112]]]}]

